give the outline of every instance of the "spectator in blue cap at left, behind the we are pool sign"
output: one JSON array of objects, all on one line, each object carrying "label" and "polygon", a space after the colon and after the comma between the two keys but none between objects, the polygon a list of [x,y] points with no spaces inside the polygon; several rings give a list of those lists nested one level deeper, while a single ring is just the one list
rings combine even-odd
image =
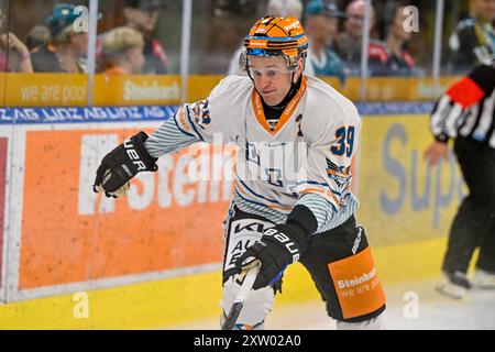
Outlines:
[{"label": "spectator in blue cap at left, behind the we are pool sign", "polygon": [[31,55],[36,73],[86,73],[88,33],[74,25],[80,13],[75,6],[58,3],[46,19],[51,40]]}]

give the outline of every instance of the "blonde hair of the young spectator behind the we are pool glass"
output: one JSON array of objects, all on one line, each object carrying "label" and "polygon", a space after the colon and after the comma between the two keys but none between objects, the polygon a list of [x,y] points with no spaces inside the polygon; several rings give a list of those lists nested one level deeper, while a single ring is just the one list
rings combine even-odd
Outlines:
[{"label": "blonde hair of the young spectator behind the we are pool glass", "polygon": [[101,44],[103,56],[119,56],[127,51],[144,46],[143,35],[129,26],[119,26],[109,31]]}]

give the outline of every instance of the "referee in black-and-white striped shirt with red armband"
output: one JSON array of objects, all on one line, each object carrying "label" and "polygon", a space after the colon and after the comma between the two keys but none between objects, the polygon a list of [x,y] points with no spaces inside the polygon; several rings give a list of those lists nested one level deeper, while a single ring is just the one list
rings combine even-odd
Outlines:
[{"label": "referee in black-and-white striped shirt with red armband", "polygon": [[[495,288],[495,58],[450,87],[431,112],[435,141],[425,152],[430,165],[453,150],[469,187],[453,220],[437,290],[462,298],[472,286]],[[471,282],[466,272],[480,248]]]}]

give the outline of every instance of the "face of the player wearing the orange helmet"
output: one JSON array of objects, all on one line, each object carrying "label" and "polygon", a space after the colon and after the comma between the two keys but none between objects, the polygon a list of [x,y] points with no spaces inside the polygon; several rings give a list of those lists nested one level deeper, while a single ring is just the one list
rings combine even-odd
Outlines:
[{"label": "face of the player wearing the orange helmet", "polygon": [[256,90],[268,106],[276,106],[290,90],[293,74],[278,57],[253,57],[250,59],[250,75]]}]

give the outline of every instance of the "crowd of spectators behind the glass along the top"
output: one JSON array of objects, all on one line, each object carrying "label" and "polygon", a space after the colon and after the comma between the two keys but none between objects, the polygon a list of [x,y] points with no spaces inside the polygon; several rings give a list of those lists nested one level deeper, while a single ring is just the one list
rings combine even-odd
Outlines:
[{"label": "crowd of spectators behind the glass along the top", "polygon": [[[48,0],[46,0],[48,1]],[[109,0],[110,1],[110,0]],[[102,3],[110,3],[102,1]],[[447,73],[463,74],[476,63],[495,53],[495,0],[463,0],[465,13],[460,15],[453,31],[446,33],[443,63]],[[87,28],[75,25],[80,19],[78,3],[56,2],[40,23],[23,36],[11,32],[7,9],[15,11],[12,1],[0,0],[0,69],[23,73],[86,73],[87,72]],[[48,1],[53,4],[53,1]],[[243,36],[248,33],[252,19],[245,25],[239,24],[234,15],[237,0],[210,0],[211,12],[200,22],[201,35],[193,28],[191,53],[195,45],[204,45],[197,61],[204,64],[202,74],[239,74],[239,54]],[[425,76],[428,74],[421,59],[427,50],[414,42],[415,35],[427,35],[409,31],[404,25],[410,12],[407,7],[415,1],[383,0],[373,1],[370,18],[371,38],[367,47],[369,76]],[[114,0],[114,9],[120,13],[117,25],[98,33],[97,72],[107,74],[176,74],[169,68],[168,52],[177,52],[164,44],[163,35],[157,33],[158,21],[169,11],[167,0]],[[195,4],[198,2],[196,1]],[[199,7],[205,8],[206,1]],[[364,0],[270,0],[244,1],[244,9],[258,18],[264,14],[294,15],[299,18],[309,37],[306,70],[310,75],[334,76],[344,81],[348,76],[361,75],[362,40],[365,13]],[[8,4],[8,6],[6,6]],[[100,21],[106,21],[106,9],[100,6]],[[174,8],[174,6],[172,6]],[[177,7],[176,7],[177,8]],[[201,9],[202,9],[201,8]],[[378,10],[377,10],[378,9]],[[173,11],[173,10],[170,10]],[[380,11],[380,12],[377,12]],[[253,13],[254,12],[254,13]],[[177,16],[179,13],[175,14]],[[238,13],[239,14],[239,13]],[[205,20],[209,16],[213,22]],[[99,21],[99,22],[100,22]],[[238,22],[232,26],[232,22]],[[420,14],[419,21],[422,21]],[[113,21],[116,22],[116,21]],[[112,22],[112,23],[113,23]],[[207,26],[207,28],[205,28]],[[244,29],[245,26],[245,29]],[[101,28],[101,25],[99,25]],[[173,37],[176,32],[166,33]],[[421,33],[421,31],[424,31]],[[207,43],[195,44],[195,37],[204,37]],[[430,31],[431,32],[431,31]],[[22,37],[22,40],[20,40]],[[165,38],[166,41],[167,38]],[[175,38],[176,40],[176,38]],[[196,42],[197,43],[197,42]],[[221,46],[216,50],[216,45]],[[167,50],[167,54],[165,48]],[[216,55],[216,53],[219,53]],[[173,55],[176,59],[177,53]],[[202,55],[201,55],[202,54]],[[177,65],[175,65],[177,67]]]}]

